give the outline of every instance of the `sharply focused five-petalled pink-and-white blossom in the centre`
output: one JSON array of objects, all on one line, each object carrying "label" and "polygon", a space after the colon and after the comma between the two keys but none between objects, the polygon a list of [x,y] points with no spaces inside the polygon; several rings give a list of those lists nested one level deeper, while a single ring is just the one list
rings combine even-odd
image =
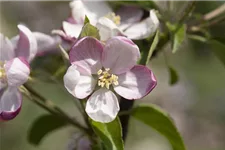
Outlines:
[{"label": "sharply focused five-petalled pink-and-white blossom in the centre", "polygon": [[135,65],[139,58],[139,48],[126,37],[115,36],[105,44],[84,37],[70,51],[71,66],[64,76],[65,88],[76,98],[88,98],[85,110],[91,119],[110,122],[120,109],[114,92],[134,100],[156,86],[152,71]]}]

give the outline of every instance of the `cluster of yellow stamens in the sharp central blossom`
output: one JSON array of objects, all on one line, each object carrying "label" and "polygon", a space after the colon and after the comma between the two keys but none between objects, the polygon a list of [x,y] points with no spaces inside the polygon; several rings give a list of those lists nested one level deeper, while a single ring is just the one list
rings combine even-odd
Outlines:
[{"label": "cluster of yellow stamens in the sharp central blossom", "polygon": [[100,69],[97,74],[98,74],[98,86],[100,87],[106,87],[109,89],[109,86],[114,84],[118,85],[118,76],[114,74],[109,73],[110,69],[106,68],[104,70]]}]

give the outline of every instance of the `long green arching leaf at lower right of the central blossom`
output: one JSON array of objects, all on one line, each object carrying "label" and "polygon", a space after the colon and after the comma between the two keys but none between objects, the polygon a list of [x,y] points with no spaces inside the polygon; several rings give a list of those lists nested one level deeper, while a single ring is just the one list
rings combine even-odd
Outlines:
[{"label": "long green arching leaf at lower right of the central blossom", "polygon": [[170,116],[155,105],[142,105],[134,108],[132,116],[164,135],[173,150],[185,150],[183,140]]}]

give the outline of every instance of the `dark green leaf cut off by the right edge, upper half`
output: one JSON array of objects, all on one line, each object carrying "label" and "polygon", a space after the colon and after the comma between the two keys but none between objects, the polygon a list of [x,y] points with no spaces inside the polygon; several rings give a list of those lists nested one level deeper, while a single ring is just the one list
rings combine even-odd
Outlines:
[{"label": "dark green leaf cut off by the right edge, upper half", "polygon": [[211,46],[211,49],[214,52],[214,54],[225,65],[225,44],[223,44],[219,41],[216,41],[216,40],[211,40],[208,43]]}]

